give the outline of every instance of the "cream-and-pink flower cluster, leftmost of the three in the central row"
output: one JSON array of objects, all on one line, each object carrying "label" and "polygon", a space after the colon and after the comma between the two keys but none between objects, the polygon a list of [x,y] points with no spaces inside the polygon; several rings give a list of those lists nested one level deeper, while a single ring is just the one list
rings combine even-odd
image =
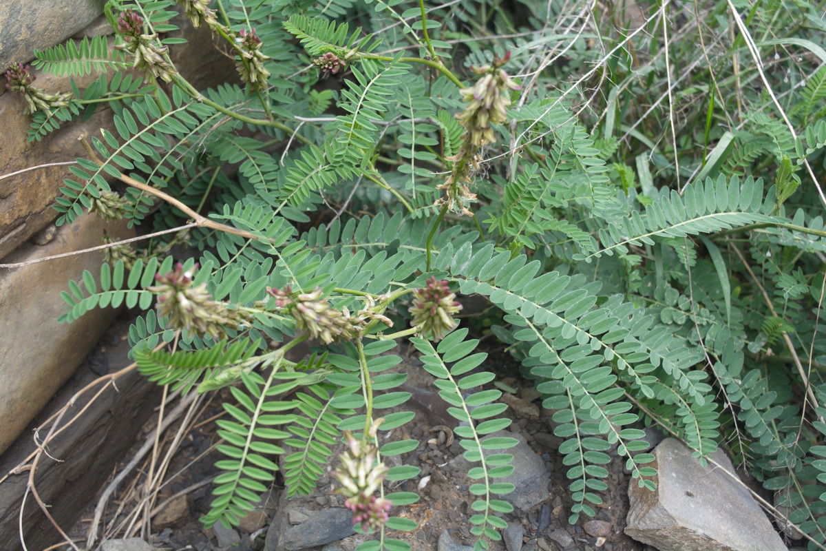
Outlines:
[{"label": "cream-and-pink flower cluster, leftmost of the three in the central row", "polygon": [[213,301],[207,292],[207,283],[192,286],[192,278],[197,270],[195,264],[186,272],[183,264],[175,265],[175,270],[166,275],[155,275],[158,285],[147,290],[159,295],[158,313],[165,316],[174,328],[185,329],[199,337],[209,335],[214,340],[226,336],[225,328],[237,329],[250,316],[240,310],[230,310],[225,302]]}]

